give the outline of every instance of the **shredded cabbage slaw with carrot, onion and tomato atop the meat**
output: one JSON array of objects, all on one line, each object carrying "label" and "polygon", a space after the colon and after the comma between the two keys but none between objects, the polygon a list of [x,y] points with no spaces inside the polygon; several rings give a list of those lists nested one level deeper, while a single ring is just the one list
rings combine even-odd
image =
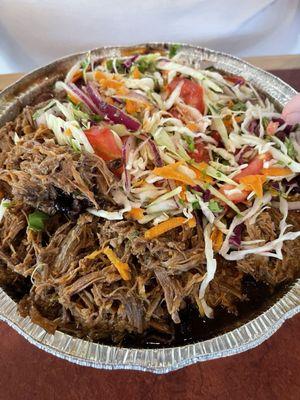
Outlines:
[{"label": "shredded cabbage slaw with carrot, onion and tomato atop the meat", "polygon": [[[201,213],[207,272],[199,298],[207,317],[213,314],[205,290],[216,272],[217,253],[232,261],[251,253],[282,258],[283,242],[300,236],[287,232],[284,184],[300,172],[299,128],[288,127],[243,78],[196,69],[180,52],[173,58],[157,52],[103,60],[88,54],[56,90],[66,92],[66,100],[52,100],[35,118],[53,131],[58,144],[97,154],[86,131],[97,127],[101,135],[108,127],[122,148],[123,170],[114,188],[122,208],[90,208],[90,213],[121,220],[138,209],[135,219],[150,227]],[[283,216],[279,237],[232,246],[234,229],[246,220],[253,223],[274,199]],[[224,236],[219,249],[214,229]]]}]

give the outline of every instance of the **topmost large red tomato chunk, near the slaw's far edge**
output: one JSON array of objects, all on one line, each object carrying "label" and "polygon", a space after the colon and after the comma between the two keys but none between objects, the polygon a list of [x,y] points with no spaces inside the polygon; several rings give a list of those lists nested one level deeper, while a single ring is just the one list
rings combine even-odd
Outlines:
[{"label": "topmost large red tomato chunk, near the slaw's far edge", "polygon": [[176,77],[169,83],[168,90],[173,92],[180,82],[183,82],[180,97],[183,99],[185,104],[197,108],[197,110],[203,114],[205,110],[203,87],[190,79]]}]

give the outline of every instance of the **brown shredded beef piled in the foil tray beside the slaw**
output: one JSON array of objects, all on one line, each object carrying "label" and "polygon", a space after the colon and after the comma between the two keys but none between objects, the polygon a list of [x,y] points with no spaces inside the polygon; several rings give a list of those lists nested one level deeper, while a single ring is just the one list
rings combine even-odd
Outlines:
[{"label": "brown shredded beef piled in the foil tray beside the slaw", "polygon": [[[116,343],[148,329],[172,336],[187,304],[202,312],[199,285],[206,260],[201,225],[183,225],[149,241],[147,226],[85,212],[87,207],[116,209],[114,175],[101,158],[58,146],[49,129],[35,126],[33,111],[25,108],[0,129],[0,190],[12,200],[0,223],[1,285],[17,288],[31,280],[19,312],[51,333],[60,329]],[[43,232],[27,228],[34,210],[49,216]],[[279,221],[276,210],[262,212],[255,224],[246,223],[243,240],[274,240]],[[298,213],[290,213],[289,221],[300,229]],[[107,245],[128,263],[130,281],[103,253],[87,257]],[[245,274],[273,286],[292,280],[299,272],[300,239],[286,242],[283,255],[277,260],[254,254],[237,263],[218,257],[205,295],[208,305],[236,313],[246,298]]]}]

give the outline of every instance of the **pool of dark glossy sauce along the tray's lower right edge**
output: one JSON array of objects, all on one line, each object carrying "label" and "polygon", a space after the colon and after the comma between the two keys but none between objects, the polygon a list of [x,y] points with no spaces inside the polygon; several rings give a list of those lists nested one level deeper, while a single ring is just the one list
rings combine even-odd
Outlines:
[{"label": "pool of dark glossy sauce along the tray's lower right edge", "polygon": [[122,347],[162,348],[176,347],[208,340],[229,332],[255,318],[268,309],[288,288],[278,287],[274,291],[268,284],[257,282],[252,276],[245,275],[242,282],[243,292],[248,300],[237,304],[237,314],[228,313],[221,307],[214,310],[214,319],[202,318],[194,304],[187,304],[180,312],[180,324],[174,324],[174,334],[159,335],[149,330],[144,335],[127,336]]}]

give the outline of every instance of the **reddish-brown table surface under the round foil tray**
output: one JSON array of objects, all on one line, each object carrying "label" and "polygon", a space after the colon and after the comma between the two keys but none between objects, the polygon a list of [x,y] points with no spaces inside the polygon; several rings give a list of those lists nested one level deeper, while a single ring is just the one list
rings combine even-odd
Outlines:
[{"label": "reddish-brown table surface under the round foil tray", "polygon": [[[255,57],[300,91],[300,56]],[[0,75],[0,89],[21,74]],[[168,375],[70,364],[0,323],[0,400],[298,400],[300,315],[259,347]]]}]

